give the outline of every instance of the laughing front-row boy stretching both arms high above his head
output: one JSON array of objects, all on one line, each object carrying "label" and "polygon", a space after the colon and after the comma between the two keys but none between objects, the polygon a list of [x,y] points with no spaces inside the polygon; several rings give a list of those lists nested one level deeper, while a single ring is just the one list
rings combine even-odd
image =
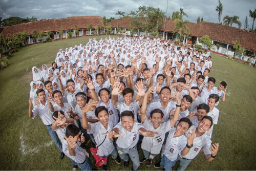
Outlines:
[{"label": "laughing front-row boy stretching both arms high above his head", "polygon": [[155,135],[153,138],[144,137],[141,143],[144,157],[140,159],[140,163],[147,160],[148,167],[152,165],[154,157],[160,153],[165,134],[170,131],[178,121],[181,106],[179,95],[175,94],[178,102],[175,113],[173,115],[171,115],[172,113],[169,114],[169,117],[173,118],[172,120],[162,123],[164,114],[160,109],[154,109],[151,111],[150,118],[148,119],[146,115],[147,96],[154,91],[154,88],[155,86],[152,86],[147,90],[141,107],[141,122],[143,123],[145,129],[158,133],[158,135]]}]

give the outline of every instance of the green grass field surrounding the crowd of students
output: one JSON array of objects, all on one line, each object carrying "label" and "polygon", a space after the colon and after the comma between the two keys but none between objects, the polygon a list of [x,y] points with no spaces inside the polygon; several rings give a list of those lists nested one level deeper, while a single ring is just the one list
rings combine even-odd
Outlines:
[{"label": "green grass field surrounding the crowd of students", "polygon": [[[97,36],[99,39],[105,36]],[[39,117],[28,117],[28,100],[33,66],[48,66],[60,48],[65,49],[88,42],[89,37],[65,39],[21,48],[9,59],[8,68],[0,70],[0,169],[1,170],[71,170],[65,157],[59,160],[59,151]],[[204,154],[197,156],[188,170],[255,170],[256,169],[256,69],[240,62],[212,55],[210,76],[228,84],[226,101],[220,102],[219,123],[212,141],[219,142],[218,158],[208,163]],[[89,151],[88,151],[89,152]],[[140,157],[142,157],[142,152]],[[91,155],[93,165],[95,160]],[[155,162],[160,161],[158,155]],[[111,170],[125,170],[109,158]],[[153,165],[154,165],[153,163]],[[132,169],[132,162],[130,162]],[[98,168],[102,169],[102,168]],[[143,163],[139,170],[154,170]],[[173,170],[177,169],[177,164]]]}]

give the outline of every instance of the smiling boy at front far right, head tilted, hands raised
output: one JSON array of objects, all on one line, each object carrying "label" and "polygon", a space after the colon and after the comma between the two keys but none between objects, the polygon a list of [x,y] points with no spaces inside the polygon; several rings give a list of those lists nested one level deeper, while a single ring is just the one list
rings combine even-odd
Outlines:
[{"label": "smiling boy at front far right, head tilted, hands raised", "polygon": [[211,145],[210,138],[205,134],[206,131],[210,130],[211,125],[212,118],[210,116],[204,116],[199,122],[198,127],[193,126],[195,131],[193,131],[192,134],[187,135],[191,140],[186,144],[182,153],[180,153],[180,166],[178,167],[178,170],[185,170],[189,163],[199,154],[202,148],[207,161],[210,162],[217,157],[219,143]]}]

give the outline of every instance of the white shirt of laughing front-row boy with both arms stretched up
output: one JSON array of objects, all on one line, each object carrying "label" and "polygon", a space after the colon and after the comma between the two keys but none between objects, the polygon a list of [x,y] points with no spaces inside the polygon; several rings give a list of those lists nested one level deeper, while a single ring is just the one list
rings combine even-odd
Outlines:
[{"label": "white shirt of laughing front-row boy with both arms stretched up", "polygon": [[170,127],[170,120],[161,123],[157,129],[154,129],[153,123],[150,119],[146,119],[143,126],[146,130],[155,131],[160,135],[155,134],[154,137],[144,137],[141,143],[141,148],[151,154],[159,154],[163,145],[165,133],[172,129],[172,127]]}]

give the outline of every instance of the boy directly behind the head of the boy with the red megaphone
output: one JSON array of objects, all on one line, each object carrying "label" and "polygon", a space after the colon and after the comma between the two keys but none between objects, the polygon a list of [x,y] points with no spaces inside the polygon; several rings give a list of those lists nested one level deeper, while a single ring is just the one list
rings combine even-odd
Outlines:
[{"label": "boy directly behind the head of the boy with the red megaphone", "polygon": [[119,122],[119,117],[117,110],[112,103],[112,100],[110,99],[110,91],[109,89],[103,88],[99,91],[99,97],[100,100],[98,102],[97,106],[105,106],[106,109],[108,109],[109,112],[109,121],[113,123],[113,126],[115,126]]}]

